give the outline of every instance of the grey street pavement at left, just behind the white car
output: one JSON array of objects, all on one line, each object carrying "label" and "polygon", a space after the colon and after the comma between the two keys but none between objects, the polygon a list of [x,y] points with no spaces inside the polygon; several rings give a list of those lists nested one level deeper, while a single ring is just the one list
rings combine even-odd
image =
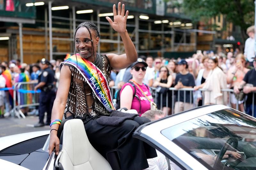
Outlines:
[{"label": "grey street pavement at left, just behind the white car", "polygon": [[50,130],[50,126],[34,128],[33,125],[38,123],[38,116],[26,116],[26,119],[17,117],[0,118],[0,137],[34,132],[41,130]]}]

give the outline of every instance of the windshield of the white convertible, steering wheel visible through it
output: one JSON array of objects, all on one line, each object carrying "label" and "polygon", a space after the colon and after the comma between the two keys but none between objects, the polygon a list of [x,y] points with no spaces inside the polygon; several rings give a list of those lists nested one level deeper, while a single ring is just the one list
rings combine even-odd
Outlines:
[{"label": "windshield of the white convertible, steering wheel visible through it", "polygon": [[256,169],[256,121],[228,108],[161,133],[211,169]]}]

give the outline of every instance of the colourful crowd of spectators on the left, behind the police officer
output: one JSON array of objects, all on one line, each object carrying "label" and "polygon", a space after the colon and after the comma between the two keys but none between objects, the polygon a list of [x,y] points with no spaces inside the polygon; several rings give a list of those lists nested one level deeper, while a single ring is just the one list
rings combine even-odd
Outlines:
[{"label": "colourful crowd of spectators on the left, behind the police officer", "polygon": [[[51,60],[50,68],[55,71],[55,78],[57,80],[56,86],[58,86],[58,80],[60,77],[59,65],[62,60]],[[37,82],[38,75],[41,73],[41,63],[27,64],[20,63],[20,60],[11,60],[8,62],[2,62],[0,65],[0,117],[7,117],[10,115],[10,111],[13,108],[13,91],[1,90],[1,88],[11,89],[17,82]],[[33,89],[30,89],[33,90]],[[22,110],[25,115],[28,110]],[[34,109],[32,114],[38,114],[38,110]]]}]

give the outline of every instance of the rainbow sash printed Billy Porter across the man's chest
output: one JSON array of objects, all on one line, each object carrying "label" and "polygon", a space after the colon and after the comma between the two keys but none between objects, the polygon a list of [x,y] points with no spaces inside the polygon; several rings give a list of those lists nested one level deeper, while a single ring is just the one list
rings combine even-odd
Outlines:
[{"label": "rainbow sash printed Billy Porter across the man's chest", "polygon": [[88,85],[90,85],[98,100],[100,100],[104,106],[115,110],[107,79],[98,67],[96,67],[88,60],[82,58],[79,54],[70,56],[67,60],[64,61],[64,63],[68,63],[76,67],[76,57],[77,70],[85,78]]}]

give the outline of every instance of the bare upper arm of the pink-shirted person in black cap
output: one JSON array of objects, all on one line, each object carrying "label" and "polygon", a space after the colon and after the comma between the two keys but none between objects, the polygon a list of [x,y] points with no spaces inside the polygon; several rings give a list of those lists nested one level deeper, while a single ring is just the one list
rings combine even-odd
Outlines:
[{"label": "bare upper arm of the pink-shirted person in black cap", "polygon": [[120,107],[126,107],[128,110],[132,107],[132,87],[126,85],[120,95]]}]

